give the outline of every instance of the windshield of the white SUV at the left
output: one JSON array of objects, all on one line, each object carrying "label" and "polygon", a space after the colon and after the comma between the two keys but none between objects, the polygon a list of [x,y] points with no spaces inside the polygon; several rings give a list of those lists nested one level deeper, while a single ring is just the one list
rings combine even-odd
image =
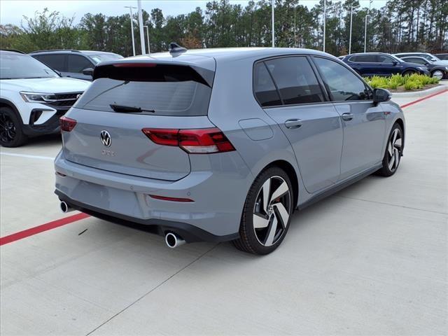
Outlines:
[{"label": "windshield of the white SUV at the left", "polygon": [[0,53],[0,79],[59,77],[55,71],[29,55]]}]

